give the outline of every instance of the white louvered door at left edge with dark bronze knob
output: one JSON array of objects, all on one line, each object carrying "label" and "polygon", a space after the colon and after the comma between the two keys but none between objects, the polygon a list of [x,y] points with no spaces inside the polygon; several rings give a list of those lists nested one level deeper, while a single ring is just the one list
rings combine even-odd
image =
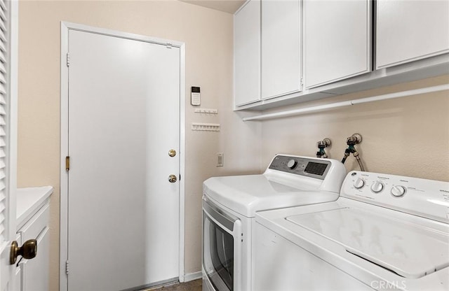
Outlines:
[{"label": "white louvered door at left edge with dark bronze knob", "polygon": [[[9,264],[15,239],[17,1],[0,0],[0,290],[16,290],[15,264]],[[12,55],[14,57],[12,57]]]}]

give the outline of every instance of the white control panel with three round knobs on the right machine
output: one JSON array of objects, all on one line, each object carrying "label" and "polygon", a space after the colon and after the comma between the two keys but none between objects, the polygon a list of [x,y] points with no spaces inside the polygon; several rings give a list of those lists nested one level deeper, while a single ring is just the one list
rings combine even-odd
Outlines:
[{"label": "white control panel with three round knobs on the right machine", "polygon": [[351,171],[340,196],[449,222],[449,182]]}]

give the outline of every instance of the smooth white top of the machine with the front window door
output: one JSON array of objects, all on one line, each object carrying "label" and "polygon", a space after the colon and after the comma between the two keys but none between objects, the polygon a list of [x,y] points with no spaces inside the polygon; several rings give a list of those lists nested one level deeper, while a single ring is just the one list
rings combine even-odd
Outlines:
[{"label": "smooth white top of the machine with the front window door", "polygon": [[334,201],[338,193],[317,190],[313,183],[291,187],[266,175],[213,177],[204,181],[203,192],[218,204],[248,218],[255,211]]}]

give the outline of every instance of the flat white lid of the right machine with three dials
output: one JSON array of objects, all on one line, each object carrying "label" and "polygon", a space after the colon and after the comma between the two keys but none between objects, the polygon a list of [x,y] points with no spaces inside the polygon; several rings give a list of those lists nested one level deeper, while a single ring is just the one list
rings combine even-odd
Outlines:
[{"label": "flat white lid of the right machine with three dials", "polygon": [[420,278],[449,266],[447,232],[420,227],[394,215],[347,207],[286,219],[406,278]]}]

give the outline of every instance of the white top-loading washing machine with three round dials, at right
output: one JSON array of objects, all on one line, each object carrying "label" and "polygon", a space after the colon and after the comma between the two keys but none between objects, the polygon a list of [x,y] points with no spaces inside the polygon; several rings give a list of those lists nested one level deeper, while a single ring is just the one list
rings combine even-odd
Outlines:
[{"label": "white top-loading washing machine with three round dials, at right", "polygon": [[449,183],[352,171],[337,201],[256,215],[255,290],[449,290]]}]

